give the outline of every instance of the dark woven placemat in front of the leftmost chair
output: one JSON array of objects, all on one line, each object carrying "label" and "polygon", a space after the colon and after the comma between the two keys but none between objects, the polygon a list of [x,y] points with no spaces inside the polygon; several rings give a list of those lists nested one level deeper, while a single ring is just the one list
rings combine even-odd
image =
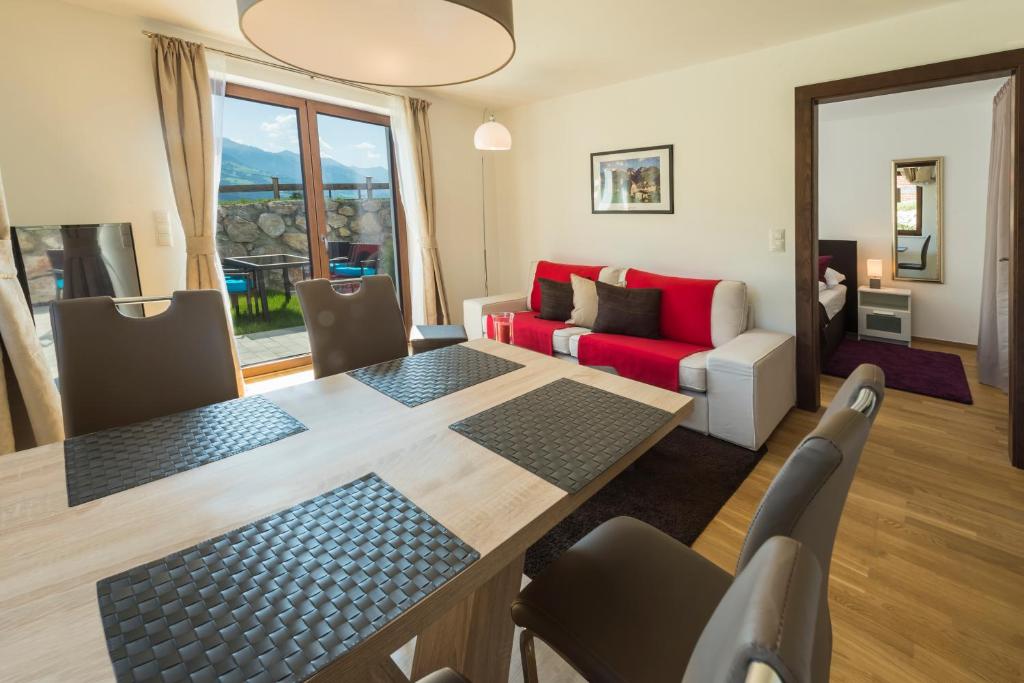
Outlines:
[{"label": "dark woven placemat in front of the leftmost chair", "polygon": [[305,431],[262,396],[237,398],[65,441],[68,505],[163,479]]}]

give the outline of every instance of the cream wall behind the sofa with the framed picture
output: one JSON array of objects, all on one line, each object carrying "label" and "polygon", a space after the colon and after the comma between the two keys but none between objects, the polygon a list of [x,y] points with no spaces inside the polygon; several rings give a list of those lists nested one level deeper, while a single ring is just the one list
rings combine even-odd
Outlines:
[{"label": "cream wall behind the sofa with the framed picture", "polygon": [[[536,258],[743,280],[757,324],[793,331],[794,88],[1020,47],[1022,24],[1024,3],[961,2],[501,113],[502,289]],[[591,214],[591,153],[665,143],[674,215]]]}]

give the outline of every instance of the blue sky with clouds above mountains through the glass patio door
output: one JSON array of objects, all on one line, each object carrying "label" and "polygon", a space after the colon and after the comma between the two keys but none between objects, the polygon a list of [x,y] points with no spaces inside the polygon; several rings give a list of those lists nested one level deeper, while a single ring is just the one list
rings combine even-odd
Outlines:
[{"label": "blue sky with clouds above mountains through the glass patio door", "polygon": [[[267,152],[299,151],[297,114],[287,106],[226,97],[224,137]],[[387,129],[319,115],[321,155],[355,168],[387,166]]]}]

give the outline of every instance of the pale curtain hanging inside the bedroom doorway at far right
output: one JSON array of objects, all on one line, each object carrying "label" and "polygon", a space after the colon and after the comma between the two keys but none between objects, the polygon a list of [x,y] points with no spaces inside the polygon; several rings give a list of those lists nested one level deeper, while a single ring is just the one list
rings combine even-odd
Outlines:
[{"label": "pale curtain hanging inside the bedroom doorway at far right", "polygon": [[988,158],[988,212],[978,328],[978,379],[1007,391],[1010,386],[1010,232],[1013,216],[1014,84],[1002,86],[992,104]]}]

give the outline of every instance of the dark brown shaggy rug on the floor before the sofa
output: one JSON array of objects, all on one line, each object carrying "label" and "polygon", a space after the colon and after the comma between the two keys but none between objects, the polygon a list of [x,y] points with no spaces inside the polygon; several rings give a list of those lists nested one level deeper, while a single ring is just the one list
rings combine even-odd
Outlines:
[{"label": "dark brown shaggy rug on the floor before the sofa", "polygon": [[636,517],[691,545],[764,456],[682,427],[563,519],[526,551],[540,574],[572,544],[613,517]]}]

